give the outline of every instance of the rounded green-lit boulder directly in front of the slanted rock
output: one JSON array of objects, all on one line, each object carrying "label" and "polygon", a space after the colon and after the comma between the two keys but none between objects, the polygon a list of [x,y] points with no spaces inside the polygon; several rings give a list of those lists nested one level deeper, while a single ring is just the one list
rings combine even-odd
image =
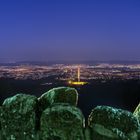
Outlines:
[{"label": "rounded green-lit boulder directly in front of the slanted rock", "polygon": [[84,140],[85,119],[81,111],[67,104],[47,108],[41,116],[41,140]]}]

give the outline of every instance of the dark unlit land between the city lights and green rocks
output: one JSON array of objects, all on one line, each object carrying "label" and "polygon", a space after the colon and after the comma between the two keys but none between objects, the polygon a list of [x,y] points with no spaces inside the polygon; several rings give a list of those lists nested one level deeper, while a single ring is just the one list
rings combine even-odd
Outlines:
[{"label": "dark unlit land between the city lights and green rocks", "polygon": [[[70,86],[64,82],[50,79],[41,80],[0,80],[0,104],[4,99],[17,93],[26,93],[41,96],[46,91],[60,86]],[[52,85],[42,85],[43,83],[53,82]],[[78,107],[83,111],[87,118],[92,108],[97,105],[108,105],[134,111],[140,102],[140,80],[110,80],[106,83],[101,81],[89,81],[88,85],[75,87],[79,93]]]}]

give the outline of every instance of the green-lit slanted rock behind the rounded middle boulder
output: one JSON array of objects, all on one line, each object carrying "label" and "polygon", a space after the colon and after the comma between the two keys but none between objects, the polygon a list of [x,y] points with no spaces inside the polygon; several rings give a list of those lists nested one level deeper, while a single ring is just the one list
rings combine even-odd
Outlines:
[{"label": "green-lit slanted rock behind the rounded middle boulder", "polygon": [[58,87],[44,93],[38,100],[41,111],[55,103],[69,103],[70,105],[76,106],[78,93],[74,88]]}]

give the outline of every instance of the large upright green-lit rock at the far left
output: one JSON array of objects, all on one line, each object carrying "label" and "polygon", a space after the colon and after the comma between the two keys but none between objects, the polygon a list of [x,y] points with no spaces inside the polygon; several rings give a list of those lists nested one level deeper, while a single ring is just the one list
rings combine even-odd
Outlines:
[{"label": "large upright green-lit rock at the far left", "polygon": [[17,94],[4,101],[2,134],[6,140],[35,140],[37,98]]}]

